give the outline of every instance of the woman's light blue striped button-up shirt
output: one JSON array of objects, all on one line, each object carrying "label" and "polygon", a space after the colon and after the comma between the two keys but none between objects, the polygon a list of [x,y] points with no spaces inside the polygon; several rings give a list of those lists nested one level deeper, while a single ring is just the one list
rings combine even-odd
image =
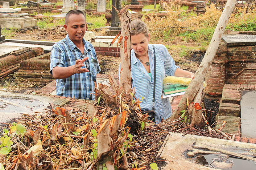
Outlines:
[{"label": "woman's light blue striped button-up shirt", "polygon": [[[165,75],[174,76],[176,69],[180,67],[175,65],[174,60],[164,45],[154,44],[154,46],[156,54],[155,120],[157,121],[156,123],[160,123],[162,119],[169,118],[172,113],[169,98],[161,99],[163,78]],[[140,107],[145,111],[152,110],[153,106],[154,50],[151,44],[148,45],[148,57],[151,77],[148,75],[139,59],[136,58],[134,50],[131,51],[132,85],[135,87],[135,97],[142,101]],[[144,99],[142,99],[142,97],[144,97]]]}]

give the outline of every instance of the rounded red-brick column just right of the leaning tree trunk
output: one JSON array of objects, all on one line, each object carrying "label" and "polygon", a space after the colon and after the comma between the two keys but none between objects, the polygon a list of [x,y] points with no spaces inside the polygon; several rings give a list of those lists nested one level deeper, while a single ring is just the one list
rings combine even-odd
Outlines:
[{"label": "rounded red-brick column just right of the leaning tree trunk", "polygon": [[207,86],[204,92],[207,95],[219,96],[222,94],[225,84],[225,64],[228,62],[226,54],[227,46],[221,44],[205,76]]}]

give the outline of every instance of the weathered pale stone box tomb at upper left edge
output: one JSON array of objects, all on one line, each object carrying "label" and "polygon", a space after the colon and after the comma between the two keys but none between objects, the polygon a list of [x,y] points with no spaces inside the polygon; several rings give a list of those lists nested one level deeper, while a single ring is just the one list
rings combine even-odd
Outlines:
[{"label": "weathered pale stone box tomb at upper left edge", "polygon": [[[27,14],[28,15],[28,14]],[[0,24],[1,28],[29,28],[36,26],[36,19],[34,17],[29,16],[0,16]]]}]

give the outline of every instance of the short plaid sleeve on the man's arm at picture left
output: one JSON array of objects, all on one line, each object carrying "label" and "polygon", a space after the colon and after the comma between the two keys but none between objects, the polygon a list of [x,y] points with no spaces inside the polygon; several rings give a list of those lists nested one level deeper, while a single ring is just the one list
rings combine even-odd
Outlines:
[{"label": "short plaid sleeve on the man's arm at picture left", "polygon": [[57,46],[53,46],[51,50],[51,57],[50,57],[50,73],[52,74],[52,69],[54,67],[64,67],[64,57],[63,52]]}]

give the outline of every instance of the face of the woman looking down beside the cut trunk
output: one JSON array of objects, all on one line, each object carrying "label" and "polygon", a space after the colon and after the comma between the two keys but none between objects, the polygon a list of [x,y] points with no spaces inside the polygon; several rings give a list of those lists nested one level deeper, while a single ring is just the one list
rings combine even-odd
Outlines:
[{"label": "face of the woman looking down beside the cut trunk", "polygon": [[131,36],[131,47],[135,54],[137,54],[137,57],[147,56],[149,39],[149,34],[148,37],[146,37],[143,33]]}]

